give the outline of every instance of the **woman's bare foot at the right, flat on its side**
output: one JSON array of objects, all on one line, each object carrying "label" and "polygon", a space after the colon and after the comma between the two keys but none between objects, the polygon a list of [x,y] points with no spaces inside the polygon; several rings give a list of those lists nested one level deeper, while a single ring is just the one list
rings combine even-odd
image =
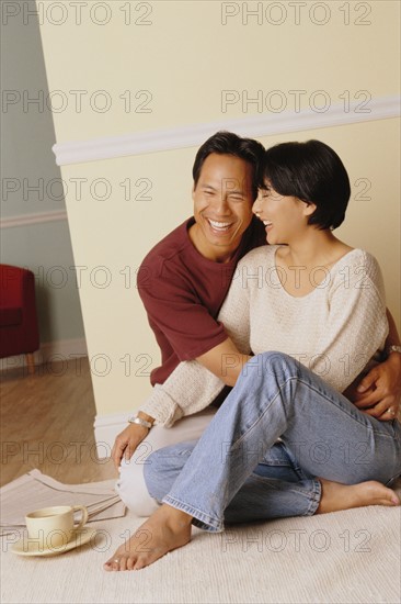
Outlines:
[{"label": "woman's bare foot at the right, flat on its side", "polygon": [[319,479],[322,496],[316,514],[364,507],[365,505],[400,505],[400,500],[391,489],[376,480],[359,484],[340,484],[324,478]]}]

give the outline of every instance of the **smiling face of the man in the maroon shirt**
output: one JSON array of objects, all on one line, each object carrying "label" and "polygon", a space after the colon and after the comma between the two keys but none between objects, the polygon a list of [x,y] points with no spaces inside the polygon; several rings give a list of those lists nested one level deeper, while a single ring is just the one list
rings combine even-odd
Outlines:
[{"label": "smiling face of the man in the maroon shirt", "polygon": [[191,238],[198,251],[213,260],[227,260],[241,243],[252,220],[253,168],[232,155],[213,153],[202,166],[193,191]]}]

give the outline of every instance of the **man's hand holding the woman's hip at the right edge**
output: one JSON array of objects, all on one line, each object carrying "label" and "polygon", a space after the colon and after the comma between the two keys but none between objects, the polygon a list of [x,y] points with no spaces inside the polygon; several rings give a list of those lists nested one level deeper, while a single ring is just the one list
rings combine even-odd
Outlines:
[{"label": "man's hand holding the woman's hip at the right edge", "polygon": [[[374,367],[356,389],[355,406],[381,422],[397,417],[401,403],[401,355]],[[389,412],[390,410],[390,412]]]}]

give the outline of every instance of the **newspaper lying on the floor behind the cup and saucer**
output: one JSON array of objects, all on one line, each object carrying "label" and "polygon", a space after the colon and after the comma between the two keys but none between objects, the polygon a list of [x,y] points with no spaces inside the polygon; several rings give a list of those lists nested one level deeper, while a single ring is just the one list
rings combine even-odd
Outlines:
[{"label": "newspaper lying on the floor behind the cup and saucer", "polygon": [[114,490],[115,480],[62,484],[32,470],[0,489],[0,536],[25,526],[27,512],[51,505],[85,505],[88,522],[119,518],[126,507]]}]

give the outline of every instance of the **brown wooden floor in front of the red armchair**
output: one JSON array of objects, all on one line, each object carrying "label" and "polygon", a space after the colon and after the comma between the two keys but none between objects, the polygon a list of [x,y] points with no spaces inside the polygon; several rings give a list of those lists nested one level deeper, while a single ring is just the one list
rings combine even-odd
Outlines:
[{"label": "brown wooden floor in front of the red armchair", "polygon": [[95,405],[88,359],[0,373],[0,484],[37,468],[61,482],[116,478],[110,459],[98,459]]}]

